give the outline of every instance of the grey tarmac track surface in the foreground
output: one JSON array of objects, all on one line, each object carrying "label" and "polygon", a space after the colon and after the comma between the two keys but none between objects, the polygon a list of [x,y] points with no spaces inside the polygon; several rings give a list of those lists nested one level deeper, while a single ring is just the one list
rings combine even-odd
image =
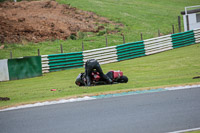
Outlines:
[{"label": "grey tarmac track surface in the foreground", "polygon": [[161,133],[200,127],[200,88],[0,112],[0,133]]}]

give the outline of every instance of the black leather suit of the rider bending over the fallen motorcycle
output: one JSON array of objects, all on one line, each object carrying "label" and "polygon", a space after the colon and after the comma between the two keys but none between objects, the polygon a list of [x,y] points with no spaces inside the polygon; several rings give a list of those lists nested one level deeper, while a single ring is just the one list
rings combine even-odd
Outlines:
[{"label": "black leather suit of the rider bending over the fallen motorcycle", "polygon": [[112,80],[103,73],[99,62],[96,59],[90,59],[85,64],[85,78],[87,86],[91,85],[91,75],[94,69],[96,69],[96,71],[99,72],[100,77],[103,80],[105,80],[108,84],[112,83]]}]

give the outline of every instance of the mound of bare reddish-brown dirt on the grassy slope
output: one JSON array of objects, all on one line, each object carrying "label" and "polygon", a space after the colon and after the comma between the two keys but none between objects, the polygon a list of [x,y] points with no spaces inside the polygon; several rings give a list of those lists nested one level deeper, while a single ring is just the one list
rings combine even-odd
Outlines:
[{"label": "mound of bare reddish-brown dirt on the grassy slope", "polygon": [[123,26],[55,1],[0,3],[0,43],[65,40],[78,32],[99,32],[107,24]]}]

